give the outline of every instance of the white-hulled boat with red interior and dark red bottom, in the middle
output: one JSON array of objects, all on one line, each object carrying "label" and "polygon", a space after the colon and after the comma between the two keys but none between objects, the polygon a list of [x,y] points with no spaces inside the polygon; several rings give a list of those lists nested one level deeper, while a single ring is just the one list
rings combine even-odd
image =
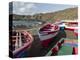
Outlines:
[{"label": "white-hulled boat with red interior and dark red bottom, in the middle", "polygon": [[38,35],[42,46],[48,47],[48,44],[58,34],[60,28],[51,23],[47,23],[39,29]]}]

